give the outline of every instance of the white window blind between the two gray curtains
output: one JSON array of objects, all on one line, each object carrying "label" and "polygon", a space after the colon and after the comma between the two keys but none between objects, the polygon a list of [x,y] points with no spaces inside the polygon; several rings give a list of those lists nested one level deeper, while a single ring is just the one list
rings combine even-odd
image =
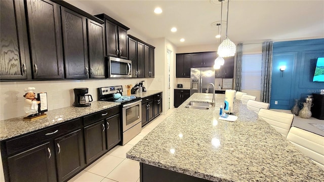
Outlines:
[{"label": "white window blind between the two gray curtains", "polygon": [[262,54],[242,55],[241,89],[261,90]]}]

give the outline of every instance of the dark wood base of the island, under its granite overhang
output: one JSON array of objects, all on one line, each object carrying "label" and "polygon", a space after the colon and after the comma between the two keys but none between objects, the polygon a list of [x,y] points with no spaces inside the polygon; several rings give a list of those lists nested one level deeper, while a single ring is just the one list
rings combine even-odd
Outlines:
[{"label": "dark wood base of the island, under its granite overhang", "polygon": [[154,181],[154,182],[207,182],[210,180],[202,179],[187,174],[171,171],[168,169],[163,169],[148,164],[140,163],[140,181]]}]

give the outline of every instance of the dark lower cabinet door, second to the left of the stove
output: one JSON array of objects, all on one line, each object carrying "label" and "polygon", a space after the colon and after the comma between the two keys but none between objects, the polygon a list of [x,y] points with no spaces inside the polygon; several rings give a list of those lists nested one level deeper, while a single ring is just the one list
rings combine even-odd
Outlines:
[{"label": "dark lower cabinet door, second to the left of the stove", "polygon": [[103,120],[84,128],[87,164],[97,159],[106,151],[105,130]]}]

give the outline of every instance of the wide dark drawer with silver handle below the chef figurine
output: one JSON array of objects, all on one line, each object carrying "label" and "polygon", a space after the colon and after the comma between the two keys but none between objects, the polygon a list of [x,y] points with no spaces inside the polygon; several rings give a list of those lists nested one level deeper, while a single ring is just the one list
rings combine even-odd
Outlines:
[{"label": "wide dark drawer with silver handle below the chef figurine", "polygon": [[53,137],[58,137],[67,132],[80,128],[80,118],[66,121],[58,125],[32,131],[24,136],[20,136],[16,139],[6,141],[7,146],[7,155],[26,150],[33,146],[36,146],[39,143],[44,143]]}]

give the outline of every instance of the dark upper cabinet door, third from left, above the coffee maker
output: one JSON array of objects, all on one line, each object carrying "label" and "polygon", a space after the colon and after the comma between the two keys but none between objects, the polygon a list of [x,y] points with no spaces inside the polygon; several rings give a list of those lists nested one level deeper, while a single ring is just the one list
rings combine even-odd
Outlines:
[{"label": "dark upper cabinet door, third from left, above the coffee maker", "polygon": [[86,17],[61,7],[65,78],[88,78]]}]

